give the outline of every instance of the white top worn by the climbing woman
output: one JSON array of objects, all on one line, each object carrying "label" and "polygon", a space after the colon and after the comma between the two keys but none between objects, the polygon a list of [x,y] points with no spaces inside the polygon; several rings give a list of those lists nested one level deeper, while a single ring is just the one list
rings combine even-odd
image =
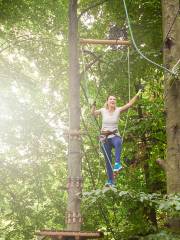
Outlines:
[{"label": "white top worn by the climbing woman", "polygon": [[[106,108],[101,108],[100,112],[102,115],[102,128],[101,131],[118,131],[118,121],[120,118],[121,108],[116,107],[114,112],[109,112]],[[119,132],[116,135],[120,135]],[[109,135],[108,138],[114,137],[114,135]]]}]

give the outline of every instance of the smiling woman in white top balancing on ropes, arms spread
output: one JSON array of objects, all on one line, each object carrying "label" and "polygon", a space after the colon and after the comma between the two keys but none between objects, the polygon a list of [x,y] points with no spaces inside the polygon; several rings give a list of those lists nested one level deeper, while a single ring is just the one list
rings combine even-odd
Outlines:
[{"label": "smiling woman in white top balancing on ropes, arms spread", "polygon": [[[93,104],[91,113],[96,117],[102,115],[102,128],[100,135],[100,142],[102,151],[106,160],[107,176],[108,180],[106,186],[114,186],[114,175],[122,170],[121,165],[121,150],[122,150],[122,138],[118,131],[118,120],[120,114],[127,111],[138,99],[141,94],[141,90],[122,107],[116,106],[116,98],[114,96],[108,96],[104,108],[96,110],[96,104]],[[112,167],[112,148],[115,148],[115,164]]]}]

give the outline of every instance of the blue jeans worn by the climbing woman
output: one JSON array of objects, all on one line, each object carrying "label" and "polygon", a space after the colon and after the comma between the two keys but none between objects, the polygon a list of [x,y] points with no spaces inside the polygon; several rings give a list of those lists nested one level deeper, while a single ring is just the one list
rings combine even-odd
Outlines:
[{"label": "blue jeans worn by the climbing woman", "polygon": [[121,161],[122,139],[119,136],[107,138],[105,142],[101,142],[102,152],[106,160],[106,169],[108,179],[113,181],[113,166],[112,166],[112,148],[115,148],[115,162]]}]

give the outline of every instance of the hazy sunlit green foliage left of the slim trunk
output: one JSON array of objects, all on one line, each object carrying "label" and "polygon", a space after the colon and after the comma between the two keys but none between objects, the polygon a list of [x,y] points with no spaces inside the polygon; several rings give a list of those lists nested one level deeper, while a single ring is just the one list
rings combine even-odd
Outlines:
[{"label": "hazy sunlit green foliage left of the slim trunk", "polygon": [[64,227],[66,4],[5,1],[0,5],[3,240],[34,239],[39,229]]}]

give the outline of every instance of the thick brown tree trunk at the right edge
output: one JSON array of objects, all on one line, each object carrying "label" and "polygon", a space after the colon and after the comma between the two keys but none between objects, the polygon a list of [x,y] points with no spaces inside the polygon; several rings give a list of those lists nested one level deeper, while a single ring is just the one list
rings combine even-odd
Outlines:
[{"label": "thick brown tree trunk at the right edge", "polygon": [[[172,69],[180,59],[180,41],[178,39],[180,34],[179,14],[176,21],[174,21],[178,9],[178,0],[162,0],[163,36],[164,39],[166,38],[163,48],[163,61],[164,65],[169,69]],[[180,192],[180,79],[175,79],[174,76],[167,72],[164,73],[164,78],[167,134],[167,193],[171,194]],[[173,228],[173,224],[171,224],[171,227]]]}]

